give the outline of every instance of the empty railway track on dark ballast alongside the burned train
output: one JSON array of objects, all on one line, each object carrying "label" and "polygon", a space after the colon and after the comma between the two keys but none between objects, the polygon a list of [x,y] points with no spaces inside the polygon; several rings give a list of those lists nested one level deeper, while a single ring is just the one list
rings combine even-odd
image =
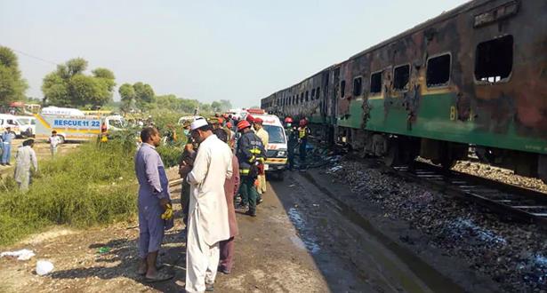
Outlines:
[{"label": "empty railway track on dark ballast alongside the burned train", "polygon": [[393,167],[398,176],[433,186],[440,192],[476,202],[502,218],[533,223],[547,228],[547,194],[503,182],[446,171],[426,162]]}]

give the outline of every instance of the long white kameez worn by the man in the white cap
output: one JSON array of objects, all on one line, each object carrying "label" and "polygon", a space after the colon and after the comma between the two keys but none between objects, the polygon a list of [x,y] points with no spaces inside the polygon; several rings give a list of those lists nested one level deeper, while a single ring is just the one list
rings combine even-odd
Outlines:
[{"label": "long white kameez worn by the man in the white cap", "polygon": [[[224,180],[232,176],[232,152],[215,135],[199,144],[190,184],[189,219],[198,217],[197,233],[207,245],[229,239]],[[197,215],[193,215],[197,213]]]}]

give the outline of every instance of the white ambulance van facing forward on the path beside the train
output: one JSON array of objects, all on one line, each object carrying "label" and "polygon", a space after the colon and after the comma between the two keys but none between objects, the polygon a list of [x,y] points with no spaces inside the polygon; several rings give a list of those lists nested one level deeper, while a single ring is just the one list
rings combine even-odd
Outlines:
[{"label": "white ambulance van facing forward on the path beside the train", "polygon": [[283,180],[287,166],[287,137],[283,124],[278,116],[267,114],[261,109],[248,109],[247,113],[253,118],[261,118],[262,127],[269,135],[266,149],[268,158],[264,164],[264,170],[267,173],[276,174],[280,180]]}]

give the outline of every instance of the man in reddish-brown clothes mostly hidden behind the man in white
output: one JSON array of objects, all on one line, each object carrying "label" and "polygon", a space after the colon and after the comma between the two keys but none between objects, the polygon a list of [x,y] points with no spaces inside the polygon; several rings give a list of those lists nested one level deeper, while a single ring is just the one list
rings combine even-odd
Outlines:
[{"label": "man in reddish-brown clothes mostly hidden behind the man in white", "polygon": [[[233,149],[233,140],[228,140],[226,133],[216,130],[213,131],[223,142],[227,143],[230,149]],[[219,261],[218,270],[221,273],[229,274],[234,263],[234,238],[239,233],[237,229],[236,209],[234,208],[234,197],[239,189],[239,163],[237,157],[232,154],[232,178],[224,181],[224,194],[226,195],[226,204],[228,205],[228,223],[229,223],[229,239],[221,241],[221,259]]]}]

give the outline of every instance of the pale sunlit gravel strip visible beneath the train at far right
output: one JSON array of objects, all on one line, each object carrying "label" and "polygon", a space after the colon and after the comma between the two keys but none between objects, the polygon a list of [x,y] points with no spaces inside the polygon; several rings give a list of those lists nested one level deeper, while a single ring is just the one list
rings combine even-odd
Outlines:
[{"label": "pale sunlit gravel strip visible beneath the train at far right", "polygon": [[545,185],[542,180],[516,175],[513,170],[492,167],[484,163],[469,161],[459,161],[452,169],[515,186],[531,188],[546,193],[545,196],[547,196],[547,185]]}]

